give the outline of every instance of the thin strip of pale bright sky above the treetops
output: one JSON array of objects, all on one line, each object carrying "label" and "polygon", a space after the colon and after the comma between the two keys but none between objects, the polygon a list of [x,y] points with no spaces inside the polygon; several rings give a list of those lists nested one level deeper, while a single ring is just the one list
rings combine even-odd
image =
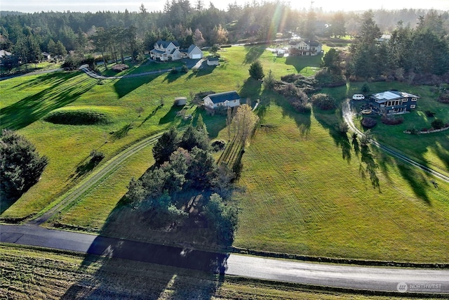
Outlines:
[{"label": "thin strip of pale bright sky above the treetops", "polygon": [[[216,8],[227,10],[229,4],[243,6],[246,3],[253,3],[254,0],[203,0],[206,8],[209,3],[213,3]],[[262,0],[255,0],[262,3]],[[269,1],[269,0],[267,0]],[[290,3],[292,8],[309,8],[313,3],[314,8],[322,8],[323,11],[366,11],[368,9],[395,10],[401,8],[434,8],[437,10],[449,11],[449,0],[314,0],[284,1]],[[147,11],[162,11],[166,0],[1,0],[1,11],[21,11],[23,13],[34,13],[40,11],[138,11],[141,4]],[[190,0],[192,6],[196,0]]]}]

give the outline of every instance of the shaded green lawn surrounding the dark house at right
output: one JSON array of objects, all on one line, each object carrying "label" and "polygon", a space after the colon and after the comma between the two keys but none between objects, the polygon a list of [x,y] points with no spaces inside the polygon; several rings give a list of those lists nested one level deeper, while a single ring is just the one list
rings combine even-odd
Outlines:
[{"label": "shaded green lawn surrounding the dark house at right", "polygon": [[[346,87],[325,89],[324,92],[342,100],[351,98],[354,93],[360,93],[361,86],[360,83],[350,84]],[[420,136],[403,133],[404,130],[411,128],[429,129],[435,118],[443,119],[445,123],[449,123],[449,105],[436,100],[438,94],[434,91],[434,88],[431,86],[410,86],[397,82],[370,83],[369,86],[371,93],[397,89],[421,97],[417,101],[416,110],[405,115],[396,115],[396,117],[403,117],[403,124],[394,126],[382,124],[380,116],[370,115],[370,117],[377,119],[377,126],[371,129],[371,132],[380,143],[389,145],[389,147],[412,157],[421,164],[437,169],[449,176],[449,131],[421,134]],[[354,110],[360,112],[358,107],[366,101],[351,101],[351,103],[354,105]],[[435,117],[426,117],[425,112],[427,110],[435,112]],[[361,118],[362,116],[358,116],[355,122],[360,129],[362,129]]]}]

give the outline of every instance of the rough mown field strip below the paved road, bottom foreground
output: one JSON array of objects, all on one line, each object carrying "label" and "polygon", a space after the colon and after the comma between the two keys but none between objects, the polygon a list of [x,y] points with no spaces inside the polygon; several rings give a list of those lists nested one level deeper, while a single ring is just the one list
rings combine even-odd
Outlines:
[{"label": "rough mown field strip below the paved road, bottom foreground", "polygon": [[15,245],[0,246],[0,266],[0,294],[6,299],[408,299],[218,278],[195,270]]}]

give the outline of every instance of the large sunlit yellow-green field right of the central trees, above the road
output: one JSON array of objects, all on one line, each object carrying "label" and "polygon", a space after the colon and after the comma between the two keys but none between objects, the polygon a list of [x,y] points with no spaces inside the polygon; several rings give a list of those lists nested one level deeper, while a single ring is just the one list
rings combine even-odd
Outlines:
[{"label": "large sunlit yellow-green field right of the central trees, above the road", "polygon": [[[259,129],[243,155],[240,183],[246,192],[238,195],[234,246],[351,259],[448,261],[448,183],[438,181],[434,188],[428,174],[372,149],[380,185],[373,188],[361,152],[349,149],[349,158],[322,117],[324,125],[315,115],[307,118],[293,119],[269,105],[263,122],[272,129]],[[310,122],[309,131],[304,134],[298,122]]]}]

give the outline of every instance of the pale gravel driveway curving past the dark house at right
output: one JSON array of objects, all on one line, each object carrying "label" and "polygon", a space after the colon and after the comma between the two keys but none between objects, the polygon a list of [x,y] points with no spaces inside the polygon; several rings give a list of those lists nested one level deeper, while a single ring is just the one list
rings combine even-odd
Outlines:
[{"label": "pale gravel driveway curving past the dark house at right", "polygon": [[[349,101],[350,100],[348,99],[345,103],[343,103],[342,112],[343,112],[344,121],[347,122],[351,131],[354,131],[355,133],[357,133],[358,136],[363,136],[363,132],[358,130],[358,128],[354,124],[354,121],[352,119],[354,116],[354,113],[351,112],[351,107],[350,107]],[[381,143],[378,143],[377,141],[370,141],[370,143],[372,145],[375,145],[377,148],[384,150],[389,155],[392,155],[394,157],[397,157],[398,159],[401,159],[403,162],[406,162],[407,164],[411,164],[414,167],[420,168],[420,169],[426,171],[427,173],[440,178],[443,181],[449,182],[449,176],[445,176],[445,174],[441,174],[440,172],[438,172],[434,169],[431,169],[427,166],[424,166],[423,164],[420,164],[419,162],[415,162],[413,159],[410,159],[410,158],[406,157],[405,155],[402,155],[401,153],[399,153],[391,148],[388,148],[387,146],[384,146]]]}]

